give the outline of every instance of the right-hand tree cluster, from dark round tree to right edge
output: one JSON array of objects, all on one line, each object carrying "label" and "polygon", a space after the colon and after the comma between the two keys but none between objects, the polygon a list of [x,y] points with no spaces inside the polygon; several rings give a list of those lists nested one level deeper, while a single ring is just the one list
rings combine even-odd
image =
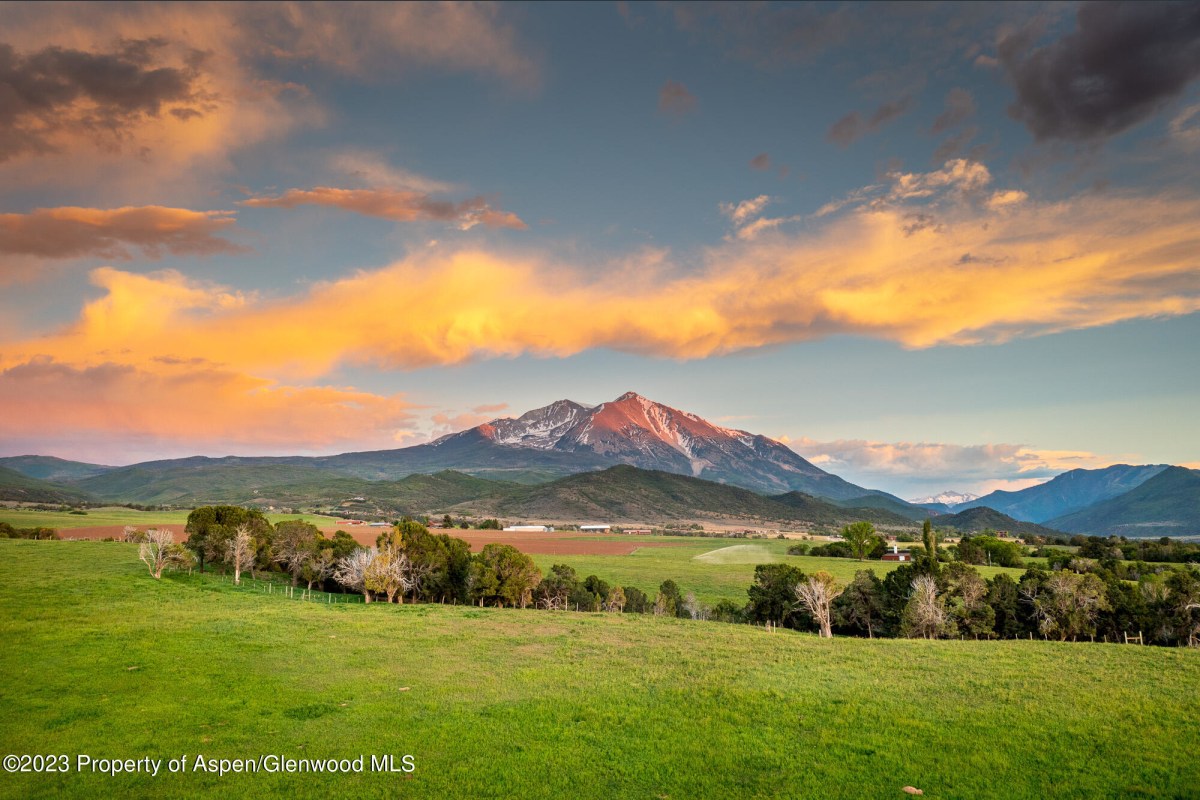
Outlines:
[{"label": "right-hand tree cluster, from dark round tree to right edge", "polygon": [[1121,549],[1088,558],[1084,547],[1020,579],[984,579],[972,566],[989,552],[1012,557],[1009,546],[994,536],[964,537],[948,553],[926,522],[914,560],[882,579],[859,570],[842,585],[827,572],[763,564],[743,618],[822,636],[1121,642],[1136,633],[1146,643],[1200,645],[1200,578],[1192,569],[1128,564]]}]

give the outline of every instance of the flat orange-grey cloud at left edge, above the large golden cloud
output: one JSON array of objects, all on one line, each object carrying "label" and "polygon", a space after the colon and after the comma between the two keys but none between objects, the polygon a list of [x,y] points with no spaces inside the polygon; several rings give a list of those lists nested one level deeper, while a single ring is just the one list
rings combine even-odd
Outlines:
[{"label": "flat orange-grey cloud at left edge, above the large golden cloud", "polygon": [[[41,258],[130,259],[212,255],[244,248],[217,236],[234,225],[232,211],[191,211],[160,205],[124,209],[73,206],[0,213],[0,253]],[[0,266],[0,275],[4,267]]]}]

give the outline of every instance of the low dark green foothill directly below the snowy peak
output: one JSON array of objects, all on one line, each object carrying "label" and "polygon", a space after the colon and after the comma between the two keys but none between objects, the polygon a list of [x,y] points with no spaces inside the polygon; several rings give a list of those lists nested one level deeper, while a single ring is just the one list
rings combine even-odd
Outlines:
[{"label": "low dark green foothill directly below the snowy peak", "polygon": [[630,465],[570,475],[540,486],[503,489],[460,504],[451,511],[563,522],[714,519],[836,525],[866,518],[912,527],[910,521],[886,511],[842,509],[799,493],[767,498],[726,483]]}]

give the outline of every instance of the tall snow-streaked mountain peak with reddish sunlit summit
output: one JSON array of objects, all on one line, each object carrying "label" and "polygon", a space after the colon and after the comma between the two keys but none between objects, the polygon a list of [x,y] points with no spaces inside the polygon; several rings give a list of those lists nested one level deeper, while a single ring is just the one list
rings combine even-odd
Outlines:
[{"label": "tall snow-streaked mountain peak with reddish sunlit summit", "polygon": [[763,493],[800,491],[839,500],[886,495],[826,473],[774,439],[713,425],[635,392],[595,408],[558,401],[516,420],[493,420],[424,447],[427,450],[413,455],[430,458],[437,451],[444,456],[442,463],[472,471],[481,462],[574,467],[570,471],[629,464]]}]

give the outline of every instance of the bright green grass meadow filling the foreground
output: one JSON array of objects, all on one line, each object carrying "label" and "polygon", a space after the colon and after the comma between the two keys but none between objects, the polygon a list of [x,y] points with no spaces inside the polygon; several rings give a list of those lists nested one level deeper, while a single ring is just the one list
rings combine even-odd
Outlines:
[{"label": "bright green grass meadow filling the foreground", "polygon": [[415,772],[0,774],[0,795],[1194,798],[1200,786],[1195,651],[326,604],[216,576],[155,582],[136,553],[0,541],[4,754],[391,753],[412,754]]}]

